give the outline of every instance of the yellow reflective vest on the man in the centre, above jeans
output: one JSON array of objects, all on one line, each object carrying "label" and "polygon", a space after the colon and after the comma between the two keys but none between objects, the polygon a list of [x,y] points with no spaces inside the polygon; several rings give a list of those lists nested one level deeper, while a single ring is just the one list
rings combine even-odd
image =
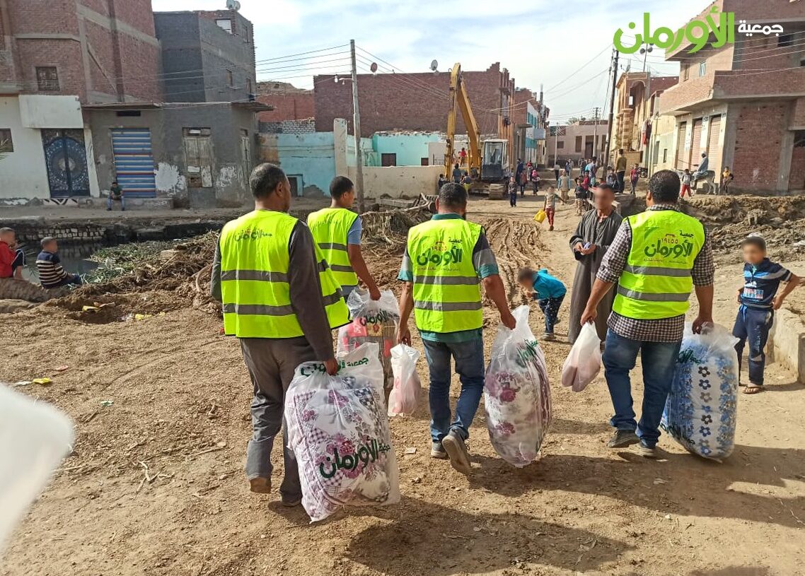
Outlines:
[{"label": "yellow reflective vest on the man in the centre, above jeans", "polygon": [[419,330],[457,332],[483,325],[473,249],[483,228],[461,219],[430,220],[408,232]]}]

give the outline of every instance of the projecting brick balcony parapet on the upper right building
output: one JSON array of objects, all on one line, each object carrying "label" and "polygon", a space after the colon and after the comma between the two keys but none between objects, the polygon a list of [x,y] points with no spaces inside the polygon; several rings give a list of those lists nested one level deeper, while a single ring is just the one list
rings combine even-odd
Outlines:
[{"label": "projecting brick balcony parapet on the upper right building", "polygon": [[793,100],[803,96],[805,96],[805,67],[718,70],[668,88],[660,98],[660,113],[679,116],[720,102]]}]

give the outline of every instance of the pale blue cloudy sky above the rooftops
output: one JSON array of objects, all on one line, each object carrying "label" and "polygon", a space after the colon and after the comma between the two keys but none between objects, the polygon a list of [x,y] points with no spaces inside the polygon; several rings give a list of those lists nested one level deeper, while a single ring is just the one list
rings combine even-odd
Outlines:
[{"label": "pale blue cloudy sky above the rooftops", "polygon": [[[589,117],[593,107],[604,107],[605,69],[614,31],[625,30],[632,21],[639,23],[649,6],[638,0],[526,0],[519,5],[499,0],[240,2],[242,14],[255,27],[258,80],[284,79],[310,88],[312,73],[349,70],[346,48],[316,52],[310,60],[276,60],[354,38],[359,47],[403,72],[426,72],[431,60],[438,60],[442,72],[456,61],[465,70],[484,70],[499,61],[509,68],[518,87],[538,91],[543,84],[552,123],[573,115]],[[154,10],[217,10],[225,7],[225,0],[152,0],[152,4]],[[708,2],[675,0],[650,6],[655,26],[675,29]],[[633,70],[642,69],[637,56],[630,56]],[[658,74],[678,73],[659,51],[650,55],[648,66]]]}]

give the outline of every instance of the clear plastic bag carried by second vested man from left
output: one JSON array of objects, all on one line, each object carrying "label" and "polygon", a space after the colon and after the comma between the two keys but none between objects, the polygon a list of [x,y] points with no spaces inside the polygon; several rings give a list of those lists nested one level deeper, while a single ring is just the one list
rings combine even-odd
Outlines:
[{"label": "clear plastic bag carried by second vested man from left", "polygon": [[397,344],[400,310],[394,292],[383,290],[379,300],[369,298],[368,290],[356,288],[347,298],[352,322],[338,331],[338,352],[352,352],[366,344],[378,344],[378,358],[383,365],[383,386],[386,391],[394,385],[391,371],[391,348]]}]

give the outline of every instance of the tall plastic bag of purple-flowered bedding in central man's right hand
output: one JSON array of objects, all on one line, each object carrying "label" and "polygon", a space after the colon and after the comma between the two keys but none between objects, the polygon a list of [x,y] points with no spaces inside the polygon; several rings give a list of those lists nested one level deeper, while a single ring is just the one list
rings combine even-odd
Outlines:
[{"label": "tall plastic bag of purple-flowered bedding in central man's right hand", "polygon": [[497,454],[516,467],[537,459],[551,425],[545,356],[528,326],[528,313],[527,306],[512,313],[517,320],[514,330],[498,327],[484,386],[489,440]]}]

